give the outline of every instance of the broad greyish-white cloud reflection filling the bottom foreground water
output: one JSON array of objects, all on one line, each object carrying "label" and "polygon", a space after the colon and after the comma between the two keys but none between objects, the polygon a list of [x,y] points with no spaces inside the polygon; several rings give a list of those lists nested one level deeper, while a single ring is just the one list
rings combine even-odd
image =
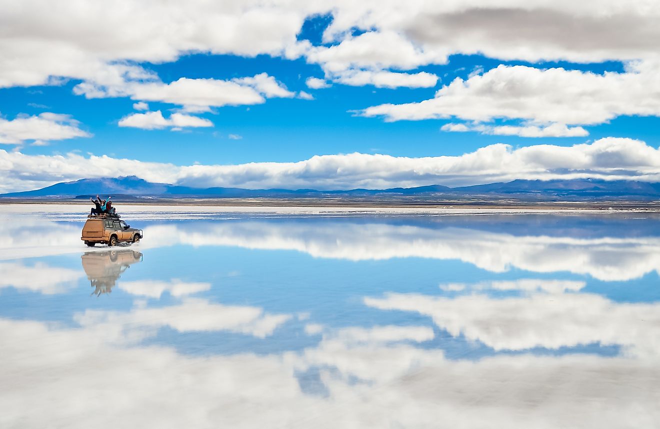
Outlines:
[{"label": "broad greyish-white cloud reflection filling the bottom foreground water", "polygon": [[[3,427],[651,428],[660,418],[655,360],[451,361],[371,333],[358,343],[334,335],[300,353],[195,358],[117,347],[89,325],[53,329],[7,319],[0,335]],[[299,375],[310,372],[325,395],[301,387]],[[34,403],[40,413],[25,413]]]}]

